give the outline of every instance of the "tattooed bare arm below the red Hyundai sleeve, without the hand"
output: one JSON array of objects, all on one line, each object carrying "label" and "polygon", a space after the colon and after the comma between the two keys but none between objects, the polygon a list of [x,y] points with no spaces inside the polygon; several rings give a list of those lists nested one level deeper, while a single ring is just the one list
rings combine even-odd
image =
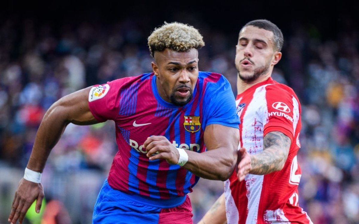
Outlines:
[{"label": "tattooed bare arm below the red Hyundai sleeve, without the hand", "polygon": [[264,175],[283,168],[292,141],[281,132],[269,132],[263,138],[263,151],[251,156],[250,173]]}]

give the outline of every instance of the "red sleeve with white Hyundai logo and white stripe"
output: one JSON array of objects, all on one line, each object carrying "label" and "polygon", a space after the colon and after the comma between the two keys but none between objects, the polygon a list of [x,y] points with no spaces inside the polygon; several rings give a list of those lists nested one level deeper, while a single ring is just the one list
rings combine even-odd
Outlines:
[{"label": "red sleeve with white Hyundai logo and white stripe", "polygon": [[264,124],[265,136],[269,132],[282,132],[292,141],[299,121],[300,106],[294,92],[280,85],[266,86],[267,119]]}]

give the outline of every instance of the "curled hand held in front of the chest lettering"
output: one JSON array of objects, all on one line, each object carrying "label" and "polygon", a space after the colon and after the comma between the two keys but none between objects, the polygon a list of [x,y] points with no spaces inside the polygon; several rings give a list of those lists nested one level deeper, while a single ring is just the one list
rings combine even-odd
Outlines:
[{"label": "curled hand held in front of the chest lettering", "polygon": [[[148,137],[144,143],[146,148],[146,156],[150,160],[165,159],[169,164],[177,164],[180,158],[178,150],[169,142],[164,136],[151,136]],[[156,155],[154,155],[157,153]]]}]

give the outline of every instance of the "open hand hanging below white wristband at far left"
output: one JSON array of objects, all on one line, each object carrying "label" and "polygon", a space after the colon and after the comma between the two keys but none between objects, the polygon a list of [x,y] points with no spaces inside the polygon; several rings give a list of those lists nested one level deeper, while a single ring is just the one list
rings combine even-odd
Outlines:
[{"label": "open hand hanging below white wristband at far left", "polygon": [[39,213],[43,198],[44,190],[41,183],[37,184],[22,178],[18,190],[15,192],[8,221],[11,222],[11,224],[15,224],[16,221],[19,220],[19,224],[21,224],[27,210],[36,199],[35,209],[36,212]]}]

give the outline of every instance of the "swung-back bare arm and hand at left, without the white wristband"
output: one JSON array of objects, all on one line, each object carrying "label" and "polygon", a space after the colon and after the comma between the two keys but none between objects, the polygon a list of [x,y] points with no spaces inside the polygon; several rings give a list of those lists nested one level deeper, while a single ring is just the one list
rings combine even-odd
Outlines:
[{"label": "swung-back bare arm and hand at left, without the white wristband", "polygon": [[[37,172],[43,171],[52,147],[61,137],[67,124],[98,123],[88,106],[89,90],[90,87],[64,96],[47,110],[36,133],[27,168]],[[21,224],[26,211],[35,200],[37,200],[35,209],[38,213],[43,197],[44,192],[41,183],[34,183],[22,178],[15,192],[8,221],[15,224],[19,220]]]}]

